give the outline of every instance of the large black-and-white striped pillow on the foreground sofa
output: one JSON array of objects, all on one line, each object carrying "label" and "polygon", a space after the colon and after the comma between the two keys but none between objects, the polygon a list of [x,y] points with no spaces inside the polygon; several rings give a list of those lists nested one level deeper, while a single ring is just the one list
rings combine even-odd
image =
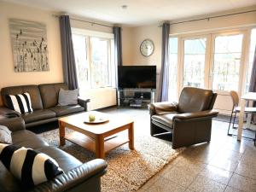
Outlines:
[{"label": "large black-and-white striped pillow on the foreground sofa", "polygon": [[0,143],[0,160],[9,172],[20,180],[25,189],[63,173],[55,160],[32,148]]}]

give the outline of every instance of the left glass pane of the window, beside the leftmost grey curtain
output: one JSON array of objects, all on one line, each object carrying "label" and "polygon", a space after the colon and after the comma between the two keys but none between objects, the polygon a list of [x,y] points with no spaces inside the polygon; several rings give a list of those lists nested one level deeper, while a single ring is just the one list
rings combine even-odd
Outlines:
[{"label": "left glass pane of the window, beside the leftmost grey curtain", "polygon": [[73,50],[80,88],[90,87],[89,61],[87,60],[86,37],[73,34]]}]

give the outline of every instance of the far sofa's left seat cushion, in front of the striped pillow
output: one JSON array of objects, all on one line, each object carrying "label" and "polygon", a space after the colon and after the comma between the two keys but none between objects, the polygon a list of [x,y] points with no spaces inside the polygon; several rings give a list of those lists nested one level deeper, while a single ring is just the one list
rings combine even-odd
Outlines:
[{"label": "far sofa's left seat cushion, in front of the striped pillow", "polygon": [[38,120],[55,118],[56,113],[49,109],[36,110],[32,113],[24,113],[21,117],[25,120],[26,124]]}]

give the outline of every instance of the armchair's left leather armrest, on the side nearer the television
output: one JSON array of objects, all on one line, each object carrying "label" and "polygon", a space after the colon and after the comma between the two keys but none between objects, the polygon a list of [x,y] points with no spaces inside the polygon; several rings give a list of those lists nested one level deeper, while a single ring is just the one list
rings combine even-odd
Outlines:
[{"label": "armchair's left leather armrest, on the side nearer the television", "polygon": [[177,110],[177,102],[154,102],[149,104],[149,113],[169,113]]}]

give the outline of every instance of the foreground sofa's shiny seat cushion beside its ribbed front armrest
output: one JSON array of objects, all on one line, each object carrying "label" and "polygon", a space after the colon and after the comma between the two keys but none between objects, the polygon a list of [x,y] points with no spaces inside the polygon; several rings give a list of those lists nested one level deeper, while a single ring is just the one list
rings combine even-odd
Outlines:
[{"label": "foreground sofa's shiny seat cushion beside its ribbed front armrest", "polygon": [[81,166],[82,162],[74,158],[71,154],[67,154],[59,148],[43,147],[37,149],[39,152],[49,155],[54,159],[64,172],[68,172],[75,167]]}]

